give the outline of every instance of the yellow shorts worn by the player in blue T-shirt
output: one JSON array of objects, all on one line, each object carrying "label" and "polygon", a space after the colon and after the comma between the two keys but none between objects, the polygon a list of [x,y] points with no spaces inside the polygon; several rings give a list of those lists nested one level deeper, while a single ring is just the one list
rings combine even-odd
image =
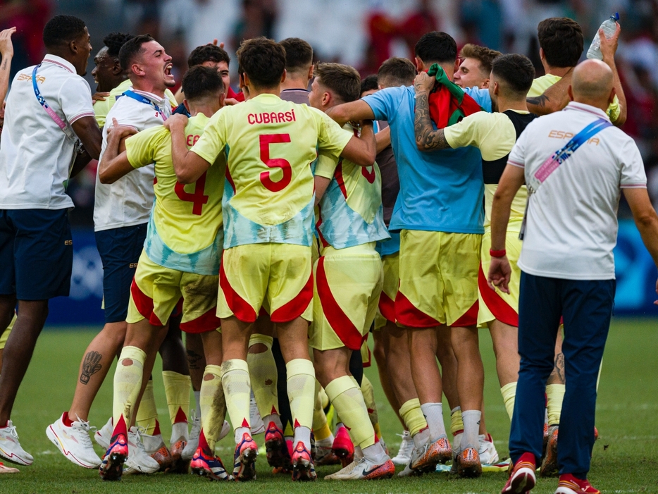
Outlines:
[{"label": "yellow shorts worn by the player in blue T-shirt", "polygon": [[402,230],[395,317],[402,326],[474,326],[482,235]]}]

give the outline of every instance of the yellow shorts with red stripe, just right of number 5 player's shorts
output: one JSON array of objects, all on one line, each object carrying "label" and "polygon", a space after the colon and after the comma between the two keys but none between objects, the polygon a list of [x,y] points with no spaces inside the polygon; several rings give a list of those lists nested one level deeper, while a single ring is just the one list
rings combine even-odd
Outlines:
[{"label": "yellow shorts with red stripe, just right of number 5 player's shorts", "polygon": [[359,351],[375,319],[384,274],[375,242],[324,247],[314,266],[311,347]]}]

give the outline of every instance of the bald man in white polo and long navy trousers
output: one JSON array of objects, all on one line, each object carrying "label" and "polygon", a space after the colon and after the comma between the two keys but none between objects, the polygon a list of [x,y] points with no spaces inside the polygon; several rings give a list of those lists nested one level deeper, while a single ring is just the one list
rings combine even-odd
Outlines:
[{"label": "bald man in white polo and long navy trousers", "polygon": [[[620,189],[658,266],[658,216],[647,194],[638,147],[606,110],[614,75],[605,63],[576,66],[564,111],[530,123],[509,154],[491,216],[490,288],[508,292],[505,233],[512,199],[528,186],[519,298],[521,367],[509,437],[514,469],[502,493],[535,486],[542,454],[544,389],[564,316],[566,392],[558,438],[557,494],[593,493],[587,480],[594,445],[596,381],[614,300]],[[581,147],[583,149],[581,149]],[[657,283],[658,292],[658,283]]]}]

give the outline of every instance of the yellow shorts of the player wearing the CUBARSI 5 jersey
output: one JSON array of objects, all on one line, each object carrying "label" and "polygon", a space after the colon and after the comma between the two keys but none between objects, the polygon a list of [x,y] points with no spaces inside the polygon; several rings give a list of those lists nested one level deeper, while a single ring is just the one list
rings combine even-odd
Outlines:
[{"label": "yellow shorts of the player wearing the CUBARSI 5 jersey", "polygon": [[217,315],[252,323],[263,306],[273,323],[313,320],[311,247],[247,244],[226,249],[219,268]]}]

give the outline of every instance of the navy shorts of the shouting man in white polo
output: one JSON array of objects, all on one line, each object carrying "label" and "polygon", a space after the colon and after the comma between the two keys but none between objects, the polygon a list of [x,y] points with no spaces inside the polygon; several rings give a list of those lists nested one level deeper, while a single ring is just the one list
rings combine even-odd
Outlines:
[{"label": "navy shorts of the shouting man in white polo", "polygon": [[103,262],[106,323],[120,323],[128,315],[130,285],[146,237],[147,223],[96,232],[96,246]]}]

